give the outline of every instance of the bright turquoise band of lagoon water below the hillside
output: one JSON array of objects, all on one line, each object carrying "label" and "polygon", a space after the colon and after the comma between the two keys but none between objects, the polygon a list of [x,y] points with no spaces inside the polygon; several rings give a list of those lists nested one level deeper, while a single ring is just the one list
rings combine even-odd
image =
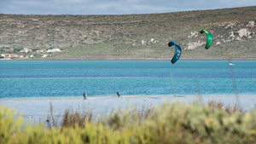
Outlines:
[{"label": "bright turquoise band of lagoon water below the hillside", "polygon": [[0,98],[117,90],[124,96],[255,95],[256,60],[0,60]]}]

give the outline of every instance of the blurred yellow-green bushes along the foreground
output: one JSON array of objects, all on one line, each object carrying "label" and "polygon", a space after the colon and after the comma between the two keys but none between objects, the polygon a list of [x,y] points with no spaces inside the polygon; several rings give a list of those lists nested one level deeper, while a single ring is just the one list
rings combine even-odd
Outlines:
[{"label": "blurred yellow-green bushes along the foreground", "polygon": [[[21,117],[14,118],[12,111],[1,107],[0,144],[251,144],[256,143],[255,115],[200,104],[166,103],[154,110],[135,108],[113,112],[101,121],[85,118],[83,124],[69,126],[66,121],[61,127],[47,129],[44,124],[24,124]],[[68,117],[65,115],[66,120]]]}]

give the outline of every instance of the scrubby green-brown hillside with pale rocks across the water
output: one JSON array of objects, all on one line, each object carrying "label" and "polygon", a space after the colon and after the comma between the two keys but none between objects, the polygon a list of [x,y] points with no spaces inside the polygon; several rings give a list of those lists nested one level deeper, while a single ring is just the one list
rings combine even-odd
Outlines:
[{"label": "scrubby green-brown hillside with pale rocks across the water", "polygon": [[[256,6],[165,14],[0,14],[1,58],[47,60],[256,60]],[[206,34],[213,43],[205,49]],[[55,49],[55,50],[53,50]],[[5,55],[5,56],[4,56]]]}]

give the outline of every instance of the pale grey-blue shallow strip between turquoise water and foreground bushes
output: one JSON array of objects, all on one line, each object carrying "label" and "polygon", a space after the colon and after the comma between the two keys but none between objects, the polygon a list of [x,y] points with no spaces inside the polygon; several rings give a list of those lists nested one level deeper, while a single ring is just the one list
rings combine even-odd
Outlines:
[{"label": "pale grey-blue shallow strip between turquoise water and foreground bushes", "polygon": [[201,100],[222,101],[224,105],[234,106],[239,104],[246,111],[256,109],[256,95],[124,95],[121,97],[89,96],[83,100],[83,96],[73,97],[40,97],[40,98],[3,98],[0,105],[14,108],[22,113],[24,118],[35,122],[44,122],[49,115],[49,104],[53,106],[55,116],[61,115],[67,109],[80,112],[93,112],[95,115],[104,115],[113,109],[125,109],[127,107],[153,107],[163,102],[192,102]]}]

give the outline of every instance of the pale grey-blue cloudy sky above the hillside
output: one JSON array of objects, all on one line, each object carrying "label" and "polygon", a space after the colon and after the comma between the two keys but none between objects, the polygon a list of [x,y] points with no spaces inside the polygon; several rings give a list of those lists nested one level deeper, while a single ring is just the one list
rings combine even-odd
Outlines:
[{"label": "pale grey-blue cloudy sky above the hillside", "polygon": [[256,6],[256,0],[0,0],[0,14],[152,14]]}]

